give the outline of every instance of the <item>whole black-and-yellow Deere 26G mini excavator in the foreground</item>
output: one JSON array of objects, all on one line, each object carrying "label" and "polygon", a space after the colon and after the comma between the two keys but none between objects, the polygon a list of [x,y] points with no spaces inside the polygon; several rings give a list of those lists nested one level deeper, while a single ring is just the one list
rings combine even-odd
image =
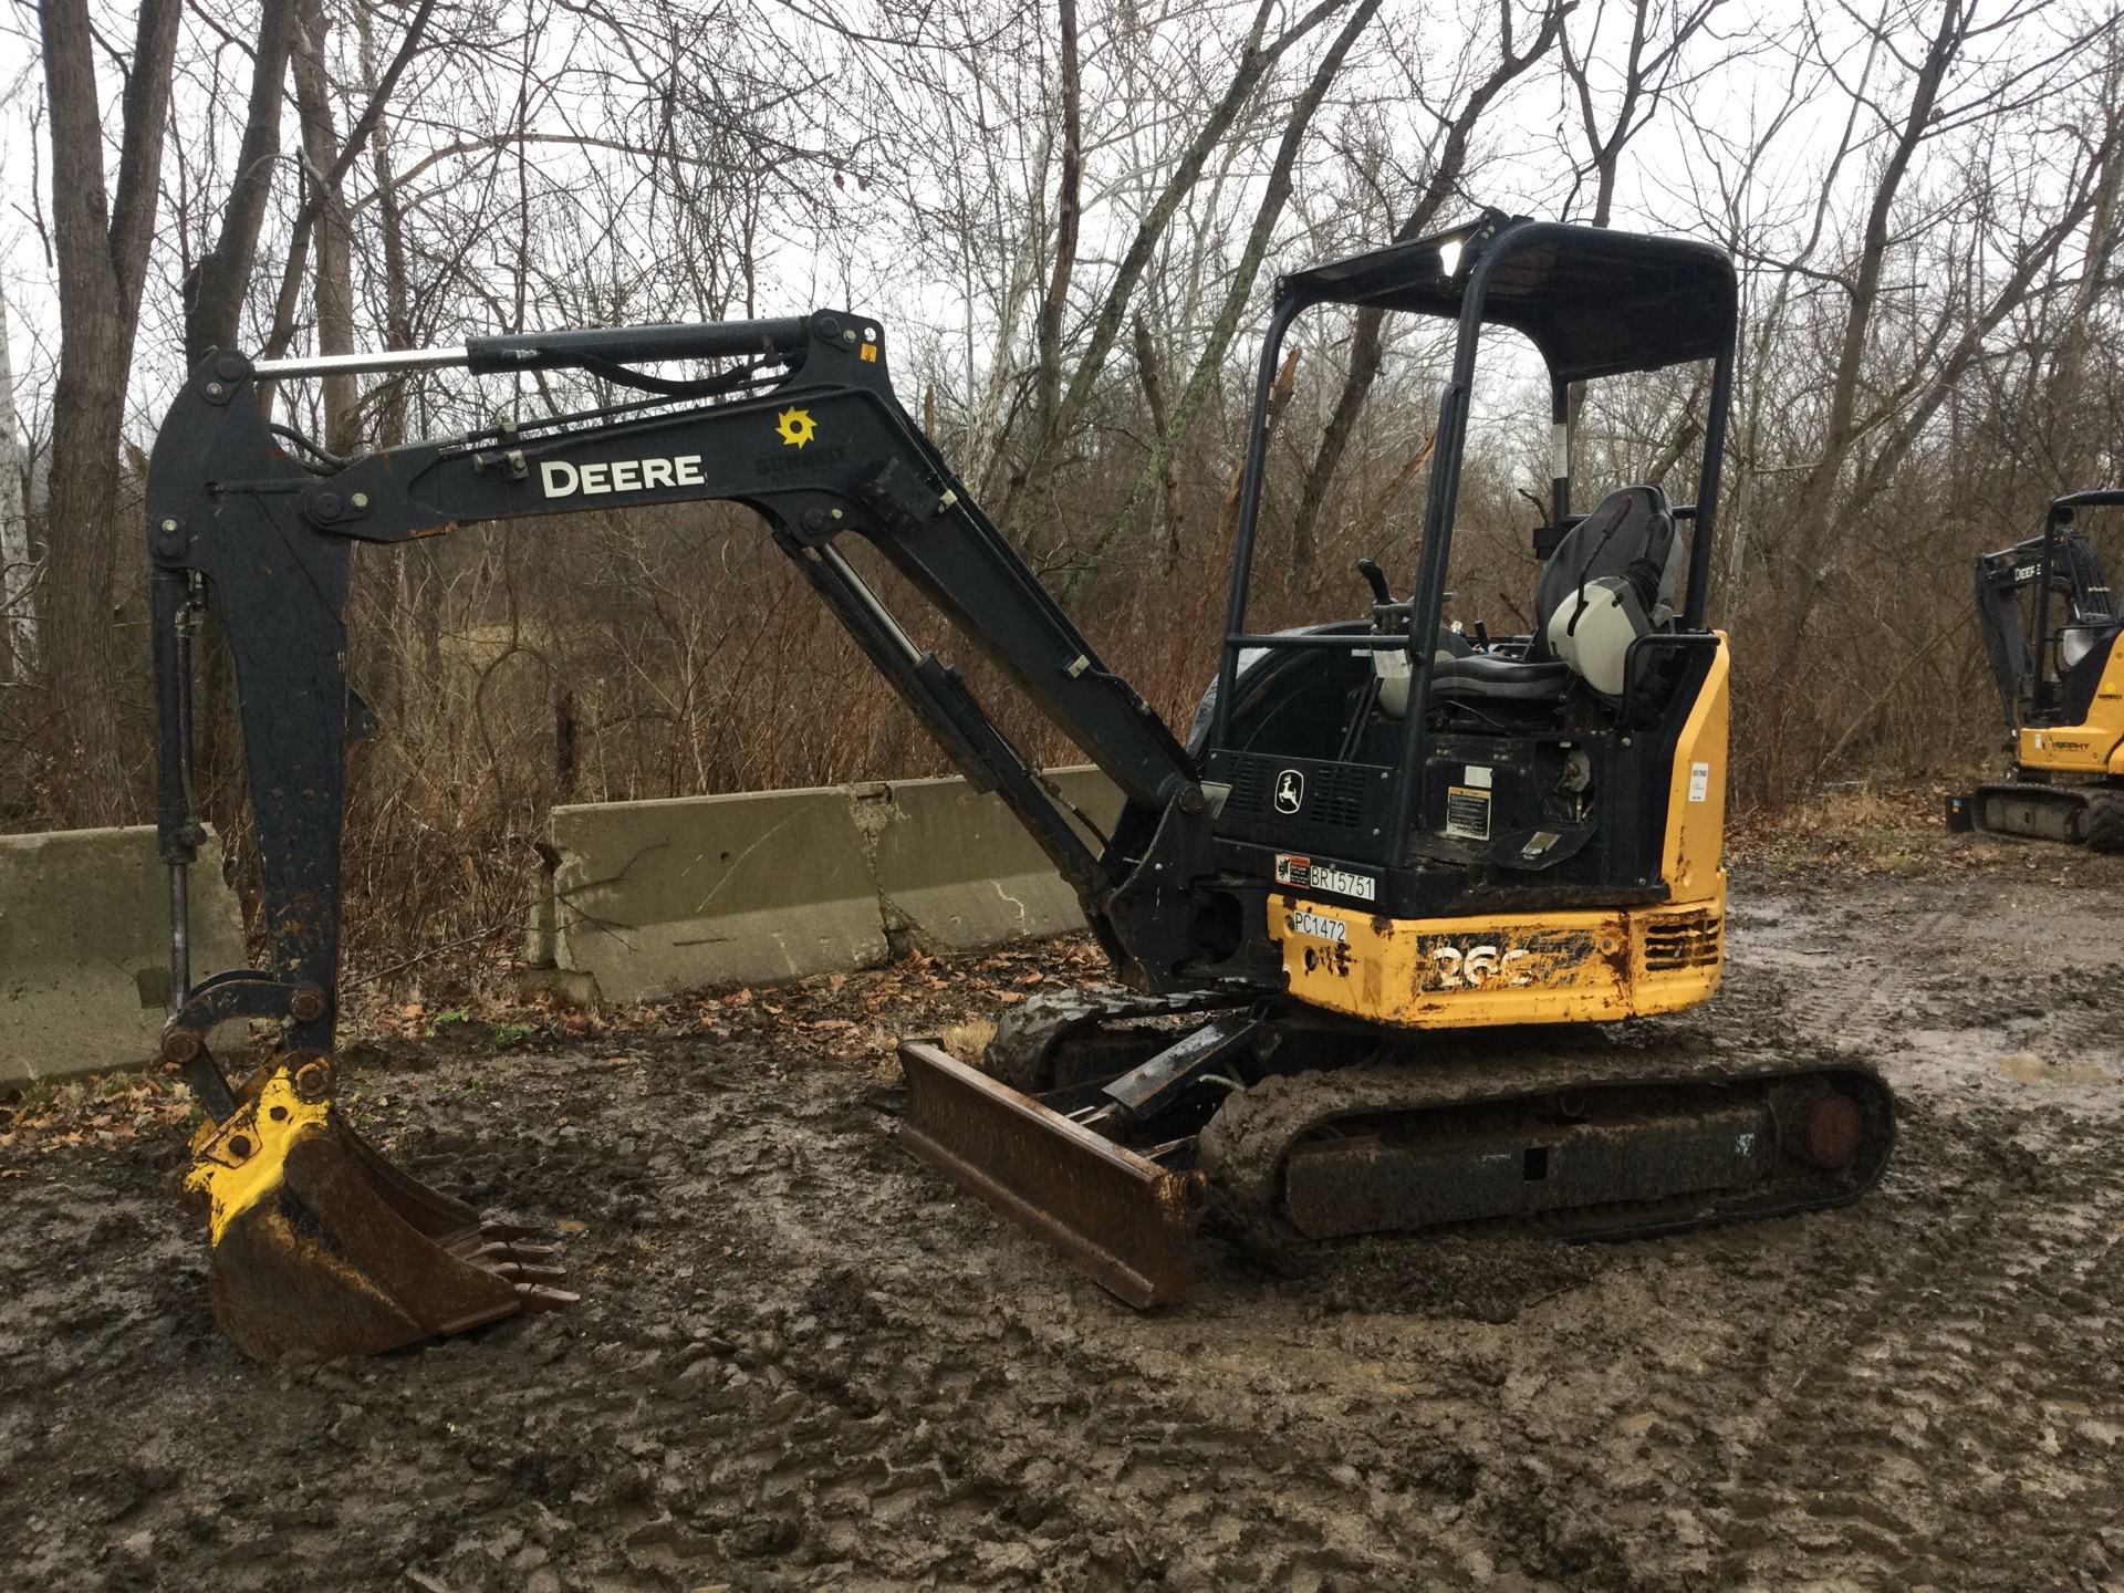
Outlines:
[{"label": "whole black-and-yellow Deere 26G mini excavator in the foreground", "polygon": [[[1353,618],[1251,631],[1266,406],[1294,321],[1451,323],[1415,586],[1359,561]],[[1442,624],[1476,355],[1546,361],[1555,455],[1534,627]],[[1209,1211],[1268,1253],[1540,1219],[1640,1236],[1833,1206],[1880,1179],[1892,1100],[1863,1064],[1740,1062],[1618,1020],[1718,988],[1727,641],[1706,629],[1735,278],[1714,246],[1512,219],[1279,282],[1217,663],[1177,735],[1113,673],[894,401],[884,329],[784,321],[571,329],[374,357],[210,355],[149,474],[161,850],[174,1015],[161,1056],[206,1113],[187,1187],[210,1302],[244,1351],[374,1353],[561,1306],[554,1253],[393,1168],[336,1104],[353,544],[467,520],[731,499],[809,580],[977,790],[1075,888],[1119,990],[1013,1007],[973,1066],[901,1047],[903,1143],[1134,1306],[1187,1287]],[[707,376],[650,374],[692,361]],[[1625,484],[1572,508],[1570,389],[1710,361],[1695,503]],[[261,378],[576,370],[639,399],[336,459],[259,412]],[[1686,533],[1684,533],[1686,527]],[[850,563],[871,544],[1121,792],[1092,845]],[[1686,567],[1686,584],[1682,569]],[[189,648],[234,654],[268,969],[191,983]],[[208,1047],[266,1020],[244,1081]]]}]

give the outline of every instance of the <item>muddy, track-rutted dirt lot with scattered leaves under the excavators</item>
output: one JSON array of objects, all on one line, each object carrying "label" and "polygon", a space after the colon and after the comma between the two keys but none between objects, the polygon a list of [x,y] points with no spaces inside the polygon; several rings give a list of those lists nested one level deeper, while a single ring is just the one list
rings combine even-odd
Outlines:
[{"label": "muddy, track-rutted dirt lot with scattered leaves under the excavators", "polygon": [[1873,1198],[1304,1277],[1206,1245],[1151,1317],[892,1145],[884,1039],[1081,947],[372,1049],[357,1115],[565,1219],[586,1298],[361,1364],[215,1338],[168,1087],[23,1111],[0,1585],[2124,1587],[2120,928],[2124,867],[1788,839],[1706,1026],[1884,1064]]}]

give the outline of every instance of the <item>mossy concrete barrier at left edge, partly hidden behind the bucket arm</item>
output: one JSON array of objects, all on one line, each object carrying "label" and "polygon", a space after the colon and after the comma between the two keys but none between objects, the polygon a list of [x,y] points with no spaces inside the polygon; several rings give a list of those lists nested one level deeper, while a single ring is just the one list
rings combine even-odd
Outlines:
[{"label": "mossy concrete barrier at left edge, partly hidden behind the bucket arm", "polygon": [[[0,835],[0,1087],[138,1068],[170,998],[170,875],[155,828]],[[191,966],[244,966],[244,920],[208,839]]]}]

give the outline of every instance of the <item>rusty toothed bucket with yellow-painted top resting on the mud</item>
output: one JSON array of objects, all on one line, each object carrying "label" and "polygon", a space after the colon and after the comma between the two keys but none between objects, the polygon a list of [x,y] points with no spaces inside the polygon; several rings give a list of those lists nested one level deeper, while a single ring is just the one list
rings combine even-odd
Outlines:
[{"label": "rusty toothed bucket with yellow-painted top resting on the mud", "polygon": [[185,1192],[212,1236],[215,1321],[261,1361],[378,1355],[576,1296],[552,1247],[482,1221],[391,1166],[331,1100],[331,1062],[293,1051],[191,1141]]}]

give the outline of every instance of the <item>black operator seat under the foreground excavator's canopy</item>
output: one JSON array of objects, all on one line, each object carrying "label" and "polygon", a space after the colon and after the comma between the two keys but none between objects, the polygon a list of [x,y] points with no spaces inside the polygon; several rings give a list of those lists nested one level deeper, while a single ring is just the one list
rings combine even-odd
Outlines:
[{"label": "black operator seat under the foreground excavator's canopy", "polygon": [[1674,506],[1657,486],[1608,493],[1548,556],[1534,593],[1534,641],[1525,658],[1474,652],[1440,658],[1432,697],[1449,701],[1557,703],[1572,680],[1601,697],[1623,695],[1629,644],[1674,622],[1682,542]]}]

